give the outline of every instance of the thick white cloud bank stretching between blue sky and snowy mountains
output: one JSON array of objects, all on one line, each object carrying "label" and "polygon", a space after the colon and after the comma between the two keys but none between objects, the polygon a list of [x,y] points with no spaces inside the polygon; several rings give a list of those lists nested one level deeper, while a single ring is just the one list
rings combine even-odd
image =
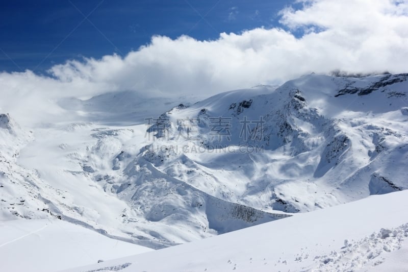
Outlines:
[{"label": "thick white cloud bank stretching between blue sky and snowy mountains", "polygon": [[30,71],[2,73],[0,88],[56,99],[121,90],[152,96],[212,95],[282,83],[312,71],[407,71],[408,0],[297,2],[301,8],[279,13],[279,28],[221,33],[208,41],[154,36],[123,58],[110,55],[55,65],[50,77]]}]

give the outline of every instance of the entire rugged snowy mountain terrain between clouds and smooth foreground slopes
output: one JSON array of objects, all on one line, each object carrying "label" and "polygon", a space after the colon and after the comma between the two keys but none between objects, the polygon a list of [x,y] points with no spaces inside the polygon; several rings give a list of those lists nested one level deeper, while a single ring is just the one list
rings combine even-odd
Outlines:
[{"label": "entire rugged snowy mountain terrain between clouds and smooth foreground slopes", "polygon": [[59,218],[159,249],[407,189],[407,80],[72,98],[57,103],[66,119],[22,128],[2,114],[0,220]]}]

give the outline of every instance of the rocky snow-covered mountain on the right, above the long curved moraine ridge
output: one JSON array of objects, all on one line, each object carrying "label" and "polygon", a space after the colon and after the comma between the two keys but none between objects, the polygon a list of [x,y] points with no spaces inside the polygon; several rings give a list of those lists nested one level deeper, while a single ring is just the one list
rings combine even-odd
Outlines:
[{"label": "rocky snow-covered mountain on the right, above the long curved moraine ridge", "polygon": [[144,156],[195,188],[266,211],[406,189],[406,80],[311,75],[180,105],[152,118],[156,141]]}]

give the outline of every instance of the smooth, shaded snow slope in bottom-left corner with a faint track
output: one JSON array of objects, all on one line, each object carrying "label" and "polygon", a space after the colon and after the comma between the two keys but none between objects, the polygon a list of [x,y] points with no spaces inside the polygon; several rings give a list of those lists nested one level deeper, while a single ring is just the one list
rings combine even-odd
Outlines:
[{"label": "smooth, shaded snow slope in bottom-left corner with a faint track", "polygon": [[0,271],[46,272],[151,251],[61,220],[0,222]]}]

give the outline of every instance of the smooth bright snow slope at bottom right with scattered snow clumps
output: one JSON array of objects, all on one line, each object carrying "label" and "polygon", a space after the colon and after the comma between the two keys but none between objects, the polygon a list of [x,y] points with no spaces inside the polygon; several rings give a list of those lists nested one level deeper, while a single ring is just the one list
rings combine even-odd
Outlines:
[{"label": "smooth bright snow slope at bottom right with scattered snow clumps", "polygon": [[406,271],[407,236],[401,191],[67,271]]}]

